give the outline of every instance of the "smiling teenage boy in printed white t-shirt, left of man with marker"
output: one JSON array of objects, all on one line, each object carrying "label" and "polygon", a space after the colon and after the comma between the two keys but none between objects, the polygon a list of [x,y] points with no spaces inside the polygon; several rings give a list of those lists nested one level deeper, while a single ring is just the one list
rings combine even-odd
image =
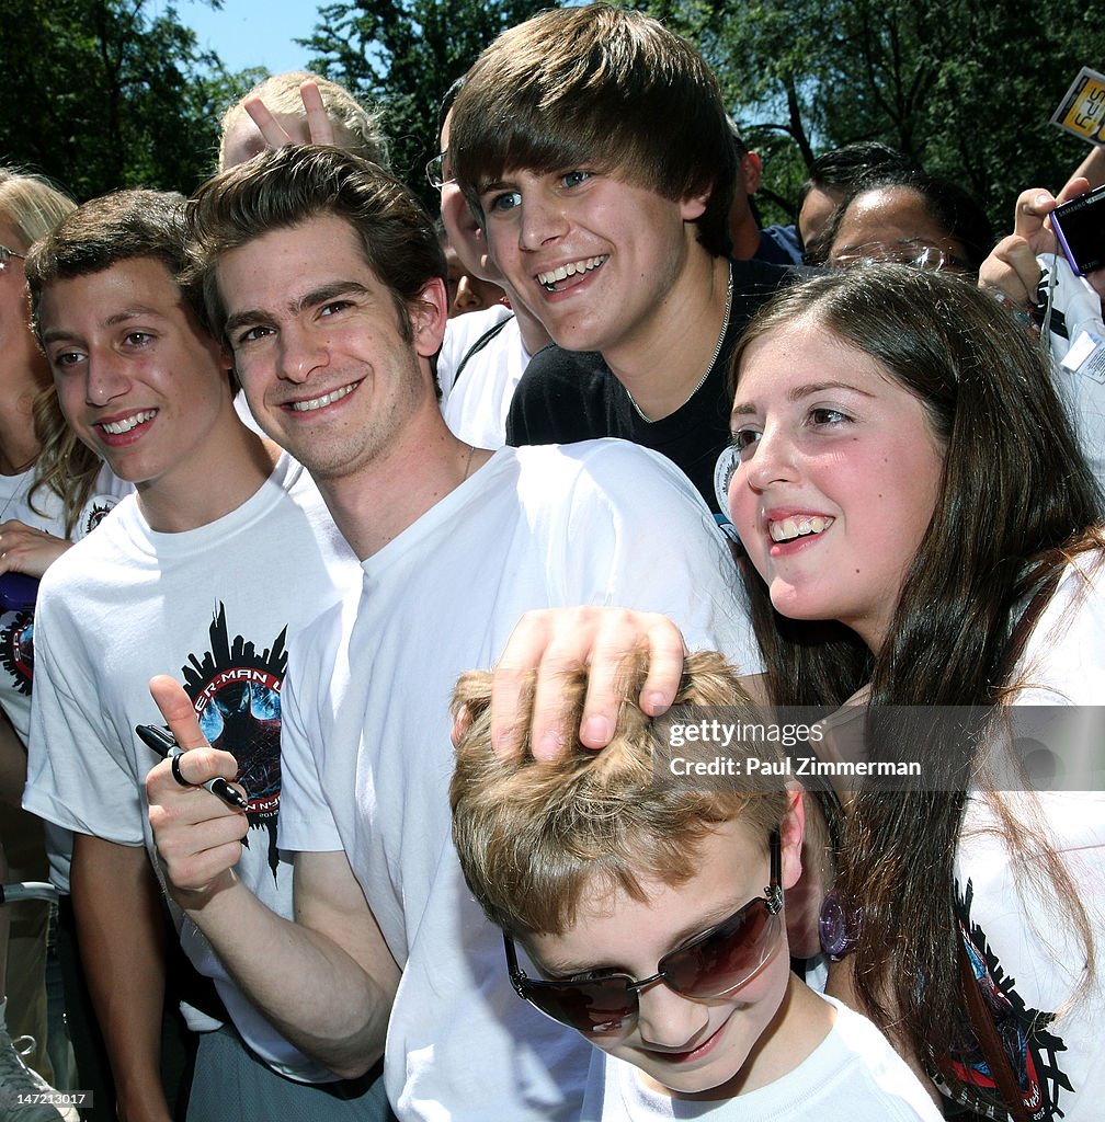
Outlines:
[{"label": "smiling teenage boy in printed white t-shirt, left of man with marker", "polygon": [[[161,890],[141,785],[156,756],[135,736],[159,720],[150,668],[183,675],[185,703],[237,761],[253,843],[238,875],[290,916],[276,848],[287,643],[359,579],[310,477],[235,413],[230,364],[177,280],[183,218],[180,196],[120,192],[85,203],[27,259],[62,412],[137,494],[43,580],[24,804],[75,835],[73,902],[119,1118],[161,1122]],[[210,1031],[190,1118],[386,1116],[382,1092],[301,1055],[174,919],[232,1023],[198,1023]]]}]

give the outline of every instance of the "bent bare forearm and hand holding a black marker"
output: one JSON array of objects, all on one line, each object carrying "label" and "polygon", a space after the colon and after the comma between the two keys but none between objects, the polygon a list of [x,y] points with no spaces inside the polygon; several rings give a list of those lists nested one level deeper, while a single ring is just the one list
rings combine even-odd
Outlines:
[{"label": "bent bare forearm and hand holding a black marker", "polygon": [[[192,702],[171,678],[150,693],[185,748],[181,778],[232,780],[237,763],[203,738]],[[246,817],[172,761],[149,773],[149,820],[170,891],[223,966],[303,1052],[353,1078],[383,1055],[399,967],[344,853],[295,857],[295,922],[270,911],[234,874]]]}]

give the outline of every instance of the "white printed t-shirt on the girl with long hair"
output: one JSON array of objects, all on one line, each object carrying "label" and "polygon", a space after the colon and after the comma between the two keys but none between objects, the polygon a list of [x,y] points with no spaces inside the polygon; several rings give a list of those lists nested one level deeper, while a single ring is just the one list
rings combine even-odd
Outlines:
[{"label": "white printed t-shirt on the girl with long hair", "polygon": [[[1040,616],[1016,675],[1029,683],[1019,703],[1101,705],[1105,565],[1097,560],[1092,555],[1069,567]],[[1038,870],[1036,885],[1013,867],[983,797],[967,804],[956,855],[957,912],[999,1036],[1016,1056],[1013,1069],[1030,1116],[1097,1122],[1105,1102],[1105,793],[1010,792],[1003,798],[1019,822],[1044,833],[1072,877],[1093,928],[1097,981],[1071,1004],[1084,972],[1081,945],[1045,870]]]}]

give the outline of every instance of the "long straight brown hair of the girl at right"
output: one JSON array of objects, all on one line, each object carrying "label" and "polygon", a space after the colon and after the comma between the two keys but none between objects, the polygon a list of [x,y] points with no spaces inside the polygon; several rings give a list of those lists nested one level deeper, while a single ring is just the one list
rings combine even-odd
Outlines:
[{"label": "long straight brown hair of the girl at right", "polygon": [[[875,359],[913,393],[946,456],[932,519],[878,652],[840,624],[779,616],[742,559],[770,695],[834,707],[869,681],[873,723],[886,706],[993,714],[1017,684],[1007,654],[1025,604],[1041,588],[1049,595],[1072,557],[1105,544],[1098,486],[1053,389],[1048,357],[970,284],[880,265],[784,293],[743,337],[736,379],[754,339],[800,319]],[[906,746],[917,758],[923,753],[935,781],[926,785],[935,790],[859,793],[838,876],[839,891],[864,908],[855,958],[861,1002],[949,1078],[949,1059],[970,1023],[952,905],[966,806],[956,792],[975,765],[974,743],[965,747],[944,728]],[[1042,847],[1044,874],[1092,963],[1089,923],[1061,861],[1001,806],[998,813],[1014,861],[1029,850],[1039,859]]]}]

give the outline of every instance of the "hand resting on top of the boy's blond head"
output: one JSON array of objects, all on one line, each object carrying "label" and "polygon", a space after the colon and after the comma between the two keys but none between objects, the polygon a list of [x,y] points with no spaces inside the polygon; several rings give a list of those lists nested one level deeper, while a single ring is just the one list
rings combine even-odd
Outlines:
[{"label": "hand resting on top of the boy's blond head", "polygon": [[529,611],[511,634],[495,666],[491,693],[491,743],[502,756],[517,753],[524,718],[521,698],[537,674],[529,721],[535,758],[552,760],[576,729],[566,728],[561,703],[564,675],[587,666],[587,695],[579,741],[603,748],[613,736],[621,707],[619,674],[625,657],[643,647],[648,675],[639,703],[651,717],[675,700],[686,649],[678,627],[665,616],[624,608],[552,608]]}]

